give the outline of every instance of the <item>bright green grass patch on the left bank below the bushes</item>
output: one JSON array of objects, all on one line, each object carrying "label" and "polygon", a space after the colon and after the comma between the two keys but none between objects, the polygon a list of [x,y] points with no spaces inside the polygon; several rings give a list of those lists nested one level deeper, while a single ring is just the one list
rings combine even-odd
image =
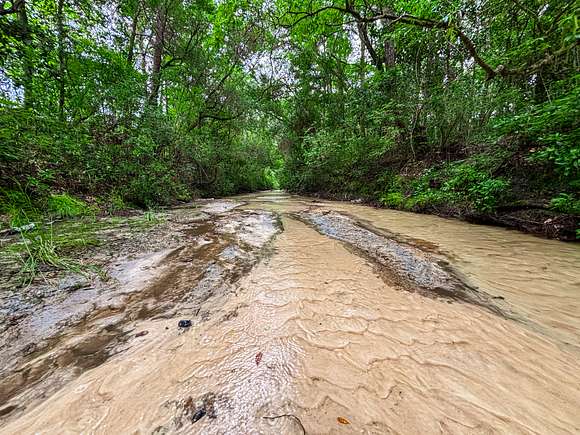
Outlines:
[{"label": "bright green grass patch on the left bank below the bushes", "polygon": [[123,208],[125,216],[89,204],[68,194],[33,200],[22,191],[6,191],[0,197],[0,260],[18,287],[27,287],[45,274],[74,272],[102,274],[86,255],[106,243],[106,232],[131,231],[156,225],[155,211]]}]

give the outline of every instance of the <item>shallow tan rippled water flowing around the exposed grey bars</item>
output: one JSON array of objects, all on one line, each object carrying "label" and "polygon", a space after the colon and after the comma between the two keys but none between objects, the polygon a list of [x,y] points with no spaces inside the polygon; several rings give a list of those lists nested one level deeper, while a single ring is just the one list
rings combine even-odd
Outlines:
[{"label": "shallow tan rippled water flowing around the exposed grey bars", "polygon": [[[207,321],[136,321],[146,336],[0,432],[580,430],[577,246],[281,192],[235,199],[280,213],[284,231],[235,292],[206,302]],[[529,325],[387,284],[288,214],[320,206],[428,242]]]}]

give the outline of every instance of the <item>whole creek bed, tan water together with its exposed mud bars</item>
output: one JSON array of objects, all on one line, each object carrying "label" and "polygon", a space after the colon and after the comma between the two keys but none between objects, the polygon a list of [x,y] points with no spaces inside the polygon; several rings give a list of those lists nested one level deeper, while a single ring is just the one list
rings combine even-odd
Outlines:
[{"label": "whole creek bed, tan water together with its exposed mud bars", "polygon": [[1,330],[0,433],[580,432],[578,244],[283,192],[168,216]]}]

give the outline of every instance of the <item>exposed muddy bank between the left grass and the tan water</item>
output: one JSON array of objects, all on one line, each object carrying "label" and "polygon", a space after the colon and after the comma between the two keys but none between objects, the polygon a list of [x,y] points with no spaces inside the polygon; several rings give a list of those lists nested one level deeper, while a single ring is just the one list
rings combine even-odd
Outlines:
[{"label": "exposed muddy bank between the left grass and the tan water", "polygon": [[231,291],[279,231],[274,214],[237,205],[172,209],[157,225],[114,233],[105,225],[100,246],[84,254],[104,273],[50,271],[26,288],[4,286],[0,419],[130,348],[147,334],[145,319],[207,320],[206,301]]}]

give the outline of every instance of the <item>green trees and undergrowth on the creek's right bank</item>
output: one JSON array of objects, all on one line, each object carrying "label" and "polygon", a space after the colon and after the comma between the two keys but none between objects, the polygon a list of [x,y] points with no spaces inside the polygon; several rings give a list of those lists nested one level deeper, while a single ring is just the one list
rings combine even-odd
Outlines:
[{"label": "green trees and undergrowth on the creek's right bank", "polygon": [[[455,216],[578,214],[569,2],[329,4],[287,21],[300,41],[290,189]],[[352,22],[358,50],[332,30]]]}]

